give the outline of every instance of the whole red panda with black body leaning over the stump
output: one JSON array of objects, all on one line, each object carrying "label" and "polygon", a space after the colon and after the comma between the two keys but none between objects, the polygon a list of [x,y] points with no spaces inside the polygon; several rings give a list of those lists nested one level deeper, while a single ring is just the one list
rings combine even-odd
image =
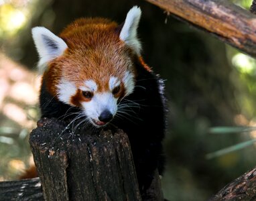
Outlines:
[{"label": "whole red panda with black body leaning over the stump", "polygon": [[143,62],[135,6],[125,22],[77,19],[60,36],[34,27],[40,56],[42,117],[70,117],[102,129],[113,124],[129,137],[141,194],[162,171],[166,126],[164,84]]}]

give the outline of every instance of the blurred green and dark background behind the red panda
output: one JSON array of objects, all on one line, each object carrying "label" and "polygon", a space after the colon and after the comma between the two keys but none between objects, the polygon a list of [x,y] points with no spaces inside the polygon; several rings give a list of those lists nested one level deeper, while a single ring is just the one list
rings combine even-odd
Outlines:
[{"label": "blurred green and dark background behind the red panda", "polygon": [[[249,9],[252,0],[233,1]],[[143,57],[166,80],[164,195],[206,200],[255,161],[256,61],[145,1],[0,0],[0,181],[33,161],[28,137],[40,118],[31,27],[59,34],[78,17],[123,22],[139,5]]]}]

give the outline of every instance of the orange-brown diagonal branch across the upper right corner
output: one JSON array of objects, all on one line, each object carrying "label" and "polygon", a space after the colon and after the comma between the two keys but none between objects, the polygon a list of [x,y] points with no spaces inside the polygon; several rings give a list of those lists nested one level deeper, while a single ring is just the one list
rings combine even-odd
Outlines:
[{"label": "orange-brown diagonal branch across the upper right corner", "polygon": [[231,46],[256,56],[256,17],[227,0],[146,0]]}]

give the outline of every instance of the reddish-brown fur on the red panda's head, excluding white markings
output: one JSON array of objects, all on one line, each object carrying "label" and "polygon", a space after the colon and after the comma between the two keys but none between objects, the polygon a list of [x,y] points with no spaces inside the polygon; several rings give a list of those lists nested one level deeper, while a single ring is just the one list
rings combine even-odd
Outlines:
[{"label": "reddish-brown fur on the red panda's head, excluding white markings", "polygon": [[[122,80],[127,70],[133,72],[133,51],[119,39],[119,34],[120,27],[109,19],[82,18],[68,25],[60,34],[68,49],[52,60],[44,73],[43,79],[52,95],[57,94],[56,86],[63,77],[77,88],[83,86],[85,80],[94,80],[97,92],[104,92],[109,90],[111,76]],[[125,88],[121,84],[117,95],[123,94]],[[71,103],[79,107],[80,100],[82,94],[77,90]]]}]

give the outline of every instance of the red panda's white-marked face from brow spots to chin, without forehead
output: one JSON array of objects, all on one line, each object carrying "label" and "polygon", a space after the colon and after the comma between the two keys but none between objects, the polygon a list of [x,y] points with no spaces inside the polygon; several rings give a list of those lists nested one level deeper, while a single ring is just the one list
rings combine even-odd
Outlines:
[{"label": "red panda's white-marked face from brow spots to chin, without forehead", "polygon": [[[129,86],[125,88],[124,85]],[[91,79],[84,80],[78,87],[73,82],[62,79],[57,86],[57,96],[64,103],[80,107],[91,123],[105,125],[117,113],[117,101],[129,94],[128,90],[132,92],[133,75],[127,72],[124,80],[110,76],[105,90],[100,90],[101,87],[101,83]]]}]

